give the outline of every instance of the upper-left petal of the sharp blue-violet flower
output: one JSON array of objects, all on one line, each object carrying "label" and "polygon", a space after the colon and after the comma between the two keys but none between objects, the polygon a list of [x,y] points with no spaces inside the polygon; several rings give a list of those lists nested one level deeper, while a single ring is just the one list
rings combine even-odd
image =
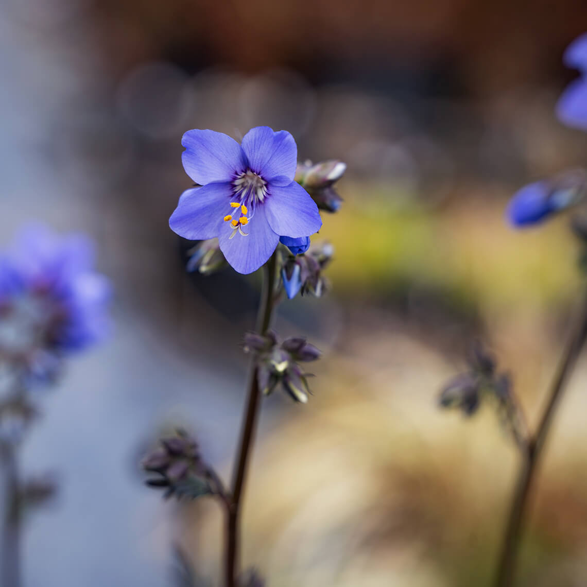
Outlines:
[{"label": "upper-left petal of the sharp blue-violet flower", "polygon": [[214,130],[188,130],[181,139],[185,173],[195,183],[232,181],[247,167],[241,146],[228,136]]}]

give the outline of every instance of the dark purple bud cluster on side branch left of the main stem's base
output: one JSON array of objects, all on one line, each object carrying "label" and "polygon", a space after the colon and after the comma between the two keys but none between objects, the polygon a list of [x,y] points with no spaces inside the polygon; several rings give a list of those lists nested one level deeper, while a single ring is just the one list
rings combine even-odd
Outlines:
[{"label": "dark purple bud cluster on side branch left of the main stem's base", "polygon": [[148,454],[143,469],[157,473],[148,479],[149,487],[165,490],[164,497],[196,498],[201,495],[223,495],[220,481],[200,456],[197,442],[184,430],[176,436],[162,438],[161,447]]}]

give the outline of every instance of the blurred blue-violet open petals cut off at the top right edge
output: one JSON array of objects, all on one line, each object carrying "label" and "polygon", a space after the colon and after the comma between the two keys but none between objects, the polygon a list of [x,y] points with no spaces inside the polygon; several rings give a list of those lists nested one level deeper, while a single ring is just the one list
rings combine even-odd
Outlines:
[{"label": "blurred blue-violet open petals cut off at the top right edge", "polygon": [[576,129],[587,130],[587,33],[566,49],[565,65],[578,69],[581,77],[571,82],[556,104],[559,119]]}]

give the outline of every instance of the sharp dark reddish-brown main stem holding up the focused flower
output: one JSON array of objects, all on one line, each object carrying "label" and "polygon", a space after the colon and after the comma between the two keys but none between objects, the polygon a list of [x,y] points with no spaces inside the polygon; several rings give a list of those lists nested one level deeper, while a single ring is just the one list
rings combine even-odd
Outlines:
[{"label": "sharp dark reddish-brown main stem holding up the focused flower", "polygon": [[[271,259],[264,266],[263,291],[261,304],[257,316],[257,332],[264,334],[271,326],[273,312],[275,309],[274,289],[277,273],[277,252],[274,252]],[[247,405],[245,407],[244,420],[241,430],[241,440],[238,445],[237,464],[235,466],[234,480],[232,482],[232,502],[228,510],[227,532],[226,532],[226,559],[225,559],[225,583],[227,587],[235,587],[237,580],[239,535],[240,535],[240,514],[241,501],[244,492],[245,480],[249,454],[257,428],[257,414],[261,390],[257,380],[257,367],[255,359],[252,359],[248,380]]]}]

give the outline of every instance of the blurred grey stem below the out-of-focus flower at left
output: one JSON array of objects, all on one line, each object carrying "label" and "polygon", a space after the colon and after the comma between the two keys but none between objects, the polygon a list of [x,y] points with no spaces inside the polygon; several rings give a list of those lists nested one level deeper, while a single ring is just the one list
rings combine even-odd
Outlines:
[{"label": "blurred grey stem below the out-of-focus flower at left", "polygon": [[5,443],[0,451],[4,477],[0,585],[2,587],[21,587],[21,508],[16,448],[10,443]]}]

